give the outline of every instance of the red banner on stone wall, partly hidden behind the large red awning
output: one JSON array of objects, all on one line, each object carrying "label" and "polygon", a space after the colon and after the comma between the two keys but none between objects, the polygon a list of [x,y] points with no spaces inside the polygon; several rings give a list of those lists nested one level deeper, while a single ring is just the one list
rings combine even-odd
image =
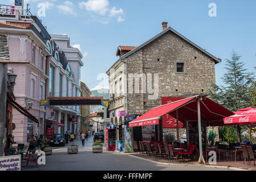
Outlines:
[{"label": "red banner on stone wall, partly hidden behind the large red awning", "polygon": [[[169,104],[170,102],[175,102],[182,100],[186,97],[162,97],[162,105]],[[170,127],[177,127],[177,121],[175,118],[166,114],[162,117],[162,127],[170,128]],[[178,127],[183,127],[182,122],[178,122]]]}]

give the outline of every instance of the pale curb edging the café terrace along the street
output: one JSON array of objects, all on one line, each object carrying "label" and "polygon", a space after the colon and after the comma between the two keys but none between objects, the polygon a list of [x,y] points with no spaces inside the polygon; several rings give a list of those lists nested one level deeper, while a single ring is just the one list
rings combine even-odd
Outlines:
[{"label": "pale curb edging the caf\u00e9 terrace along the street", "polygon": [[123,152],[120,152],[120,151],[116,151],[115,152],[118,152],[119,154],[123,154],[123,155],[129,155],[129,156],[132,156],[134,158],[139,158],[139,159],[143,159],[143,160],[146,160],[148,162],[152,162],[152,163],[155,163],[155,164],[164,164],[164,165],[179,165],[179,166],[194,166],[194,165],[200,165],[200,166],[205,166],[205,167],[212,167],[212,168],[226,168],[226,169],[231,169],[233,171],[251,171],[249,169],[241,169],[241,168],[236,168],[236,167],[228,167],[228,166],[208,166],[208,165],[205,165],[205,164],[175,164],[175,163],[162,163],[162,162],[156,162],[156,161],[153,161],[151,159],[145,159],[145,158],[141,158],[139,156],[135,156],[135,155],[131,155],[131,154],[125,154]]}]

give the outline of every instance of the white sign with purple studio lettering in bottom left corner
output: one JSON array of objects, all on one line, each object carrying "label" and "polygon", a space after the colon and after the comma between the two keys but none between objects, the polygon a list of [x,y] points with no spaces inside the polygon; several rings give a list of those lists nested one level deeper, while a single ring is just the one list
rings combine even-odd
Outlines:
[{"label": "white sign with purple studio lettering in bottom left corner", "polygon": [[21,171],[21,155],[0,157],[0,171]]}]

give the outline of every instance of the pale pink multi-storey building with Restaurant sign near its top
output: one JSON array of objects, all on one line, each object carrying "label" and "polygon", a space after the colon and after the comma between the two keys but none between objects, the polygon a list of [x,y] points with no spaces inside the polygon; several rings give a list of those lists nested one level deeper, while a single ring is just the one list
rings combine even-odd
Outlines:
[{"label": "pale pink multi-storey building with Restaurant sign near its top", "polygon": [[14,109],[15,142],[26,144],[31,134],[46,135],[48,128],[55,134],[67,130],[78,133],[79,106],[40,106],[40,101],[49,96],[80,97],[82,54],[70,46],[68,36],[51,36],[42,21],[29,11],[11,8],[5,6],[0,16],[0,34],[6,35],[9,48],[8,71],[17,75],[16,101],[39,120],[39,124],[34,123]]}]

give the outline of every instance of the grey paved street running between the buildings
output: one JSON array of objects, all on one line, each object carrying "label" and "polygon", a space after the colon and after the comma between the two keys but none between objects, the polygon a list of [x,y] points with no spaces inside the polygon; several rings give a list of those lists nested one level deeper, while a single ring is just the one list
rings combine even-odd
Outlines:
[{"label": "grey paved street running between the buildings", "polygon": [[121,154],[115,151],[104,150],[101,154],[92,153],[93,137],[86,140],[85,146],[82,147],[81,140],[76,140],[74,144],[79,145],[78,154],[68,154],[66,147],[54,147],[52,155],[46,156],[46,165],[37,168],[35,164],[32,167],[23,168],[28,170],[85,170],[85,171],[180,171],[180,170],[229,170],[225,168],[206,168],[199,164],[193,166],[184,166],[182,164],[156,164],[144,159],[136,158],[134,156]]}]

